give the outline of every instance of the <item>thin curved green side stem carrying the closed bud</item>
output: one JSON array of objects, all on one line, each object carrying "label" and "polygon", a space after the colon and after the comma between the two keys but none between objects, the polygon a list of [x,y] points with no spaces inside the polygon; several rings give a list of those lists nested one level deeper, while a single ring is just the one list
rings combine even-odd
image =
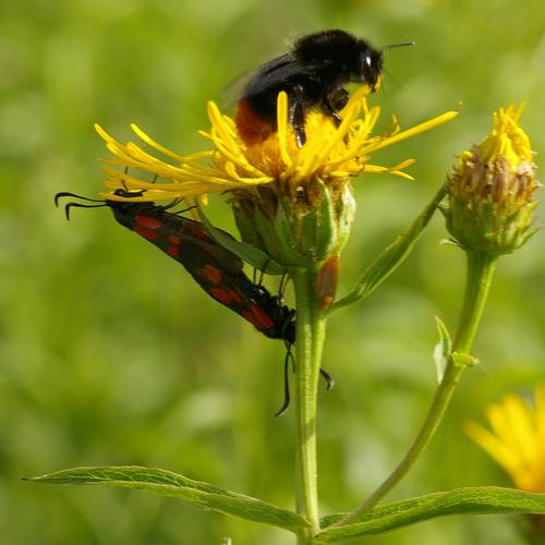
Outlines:
[{"label": "thin curved green side stem carrying the closed bud", "polygon": [[[488,296],[496,258],[477,252],[467,252],[468,272],[463,305],[460,312],[458,332],[452,347],[453,352],[470,353],[484,305]],[[453,358],[449,359],[443,380],[435,393],[434,400],[422,425],[422,428],[411,448],[393,472],[384,483],[354,510],[343,519],[332,524],[341,526],[359,519],[388,494],[413,467],[419,455],[427,447],[437,431],[443,416],[450,403],[455,388],[467,365],[457,365]]]}]

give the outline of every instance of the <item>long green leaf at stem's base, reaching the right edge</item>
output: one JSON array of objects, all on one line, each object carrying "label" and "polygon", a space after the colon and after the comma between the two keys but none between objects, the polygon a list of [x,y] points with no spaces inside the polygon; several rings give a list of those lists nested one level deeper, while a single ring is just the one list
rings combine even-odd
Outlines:
[{"label": "long green leaf at stem's base, reaching the right edge", "polygon": [[[377,534],[445,514],[545,513],[545,494],[480,486],[437,492],[395,504],[378,506],[366,512],[361,522],[346,526],[325,528],[314,543],[331,543],[348,537]],[[322,528],[341,520],[332,514],[322,521]]]}]

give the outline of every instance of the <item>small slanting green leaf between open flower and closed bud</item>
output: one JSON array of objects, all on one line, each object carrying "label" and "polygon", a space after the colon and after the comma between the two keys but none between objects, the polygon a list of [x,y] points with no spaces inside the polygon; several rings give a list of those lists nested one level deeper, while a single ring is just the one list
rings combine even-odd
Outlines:
[{"label": "small slanting green leaf between open flower and closed bud", "polygon": [[352,292],[331,305],[329,312],[371,295],[403,263],[445,194],[446,185],[443,185],[420,216],[364,270]]}]

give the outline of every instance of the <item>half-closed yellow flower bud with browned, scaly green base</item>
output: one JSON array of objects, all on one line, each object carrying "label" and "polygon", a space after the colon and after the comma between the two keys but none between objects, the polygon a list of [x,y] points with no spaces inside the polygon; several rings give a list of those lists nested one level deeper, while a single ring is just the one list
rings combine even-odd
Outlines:
[{"label": "half-closed yellow flower bud with browned, scaly green base", "polygon": [[447,229],[464,250],[498,256],[533,234],[540,186],[530,141],[518,121],[521,110],[500,108],[487,138],[463,152],[449,177]]}]

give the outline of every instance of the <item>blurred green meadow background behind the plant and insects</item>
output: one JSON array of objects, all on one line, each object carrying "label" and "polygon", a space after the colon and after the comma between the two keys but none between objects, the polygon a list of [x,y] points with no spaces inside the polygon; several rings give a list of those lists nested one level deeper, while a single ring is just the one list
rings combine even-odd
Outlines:
[{"label": "blurred green meadow background behind the plant and insects", "polygon": [[[93,123],[128,138],[135,121],[189,153],[206,143],[205,101],[286,39],[340,27],[387,53],[383,124],[458,107],[446,126],[377,154],[417,162],[417,183],[367,175],[343,255],[340,293],[415,217],[492,111],[525,100],[523,125],[545,148],[545,5],[512,1],[3,0],[0,5],[0,542],[113,545],[290,543],[275,529],[175,500],[21,477],[85,464],[145,464],[292,506],[293,422],[272,417],[281,342],[217,305],[177,264],[108,210],[74,210],[58,191],[93,196],[105,156]],[[542,213],[543,216],[543,213]],[[210,217],[232,227],[221,197]],[[538,220],[540,222],[541,220]],[[415,252],[364,304],[336,314],[320,393],[324,514],[353,507],[400,459],[435,388],[434,315],[453,328],[463,256],[439,245],[435,218]],[[274,288],[274,283],[269,287]],[[545,370],[545,242],[501,259],[475,354],[433,446],[388,499],[508,480],[463,423]],[[373,544],[520,543],[506,517],[452,517]]]}]

